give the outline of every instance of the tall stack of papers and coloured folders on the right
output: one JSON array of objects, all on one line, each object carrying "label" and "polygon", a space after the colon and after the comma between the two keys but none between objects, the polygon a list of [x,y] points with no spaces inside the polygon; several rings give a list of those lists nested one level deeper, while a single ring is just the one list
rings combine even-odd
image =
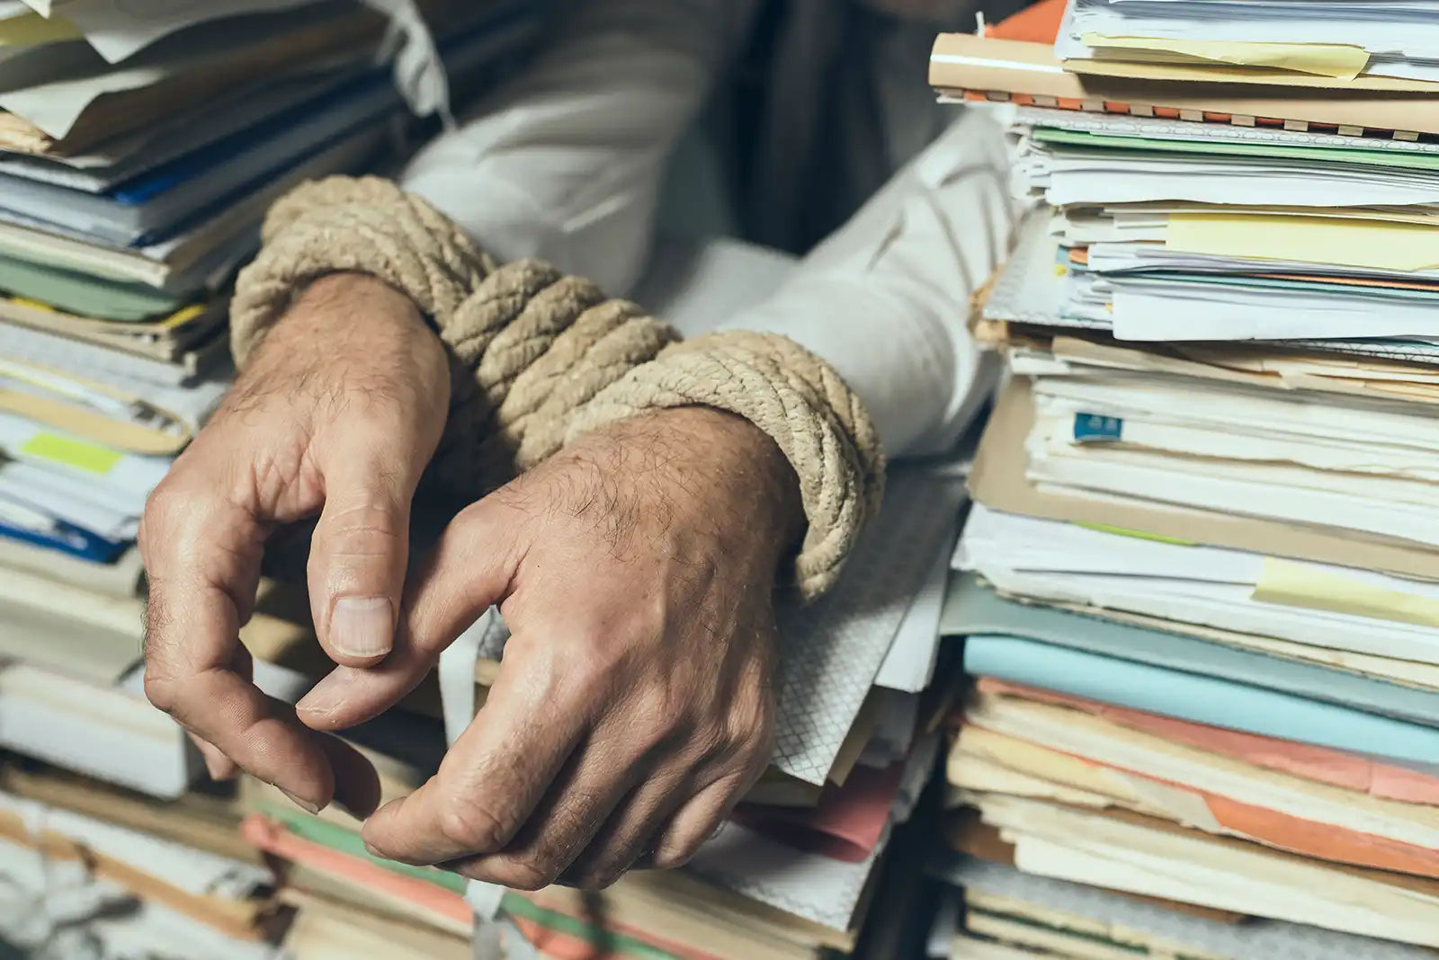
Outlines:
[{"label": "tall stack of papers and coloured folders on the right", "polygon": [[1032,211],[971,319],[1012,377],[934,951],[1439,947],[1435,24],[1075,0],[937,43]]}]

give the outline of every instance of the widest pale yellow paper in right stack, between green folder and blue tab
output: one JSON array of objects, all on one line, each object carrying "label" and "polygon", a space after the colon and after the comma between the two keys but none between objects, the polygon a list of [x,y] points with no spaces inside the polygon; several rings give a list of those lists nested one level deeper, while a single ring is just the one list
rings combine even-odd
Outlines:
[{"label": "widest pale yellow paper in right stack, between green folder and blue tab", "polygon": [[1412,223],[1176,213],[1170,214],[1164,246],[1222,257],[1380,270],[1439,269],[1439,230]]}]

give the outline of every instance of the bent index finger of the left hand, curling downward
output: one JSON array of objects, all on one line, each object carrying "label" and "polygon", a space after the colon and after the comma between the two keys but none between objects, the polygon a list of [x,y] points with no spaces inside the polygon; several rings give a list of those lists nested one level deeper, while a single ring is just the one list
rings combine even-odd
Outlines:
[{"label": "bent index finger of the left hand, curling downward", "polygon": [[335,790],[324,749],[292,707],[237,671],[265,530],[223,489],[173,476],[145,504],[145,696],[256,777],[319,809]]}]

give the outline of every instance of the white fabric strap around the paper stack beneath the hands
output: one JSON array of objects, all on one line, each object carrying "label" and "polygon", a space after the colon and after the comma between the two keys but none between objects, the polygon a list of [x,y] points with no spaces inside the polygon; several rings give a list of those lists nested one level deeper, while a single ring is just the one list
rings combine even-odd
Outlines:
[{"label": "white fabric strap around the paper stack beneath the hands", "polygon": [[[481,644],[494,622],[495,611],[491,608],[440,654],[440,713],[445,717],[445,740],[450,746],[475,719],[475,667]],[[504,898],[505,888],[499,884],[472,880],[465,887],[465,901],[475,911],[475,960],[538,960],[538,951],[519,927],[501,914]]]}]

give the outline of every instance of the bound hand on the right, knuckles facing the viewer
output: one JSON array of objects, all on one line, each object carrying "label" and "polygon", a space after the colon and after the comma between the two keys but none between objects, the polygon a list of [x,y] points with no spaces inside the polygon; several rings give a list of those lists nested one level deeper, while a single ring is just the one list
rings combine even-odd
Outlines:
[{"label": "bound hand on the right, knuckles facing the viewer", "polygon": [[394,652],[298,704],[317,729],[366,720],[501,605],[489,698],[370,849],[522,890],[685,862],[768,763],[771,589],[802,522],[773,441],[699,408],[593,434],[459,514]]}]

